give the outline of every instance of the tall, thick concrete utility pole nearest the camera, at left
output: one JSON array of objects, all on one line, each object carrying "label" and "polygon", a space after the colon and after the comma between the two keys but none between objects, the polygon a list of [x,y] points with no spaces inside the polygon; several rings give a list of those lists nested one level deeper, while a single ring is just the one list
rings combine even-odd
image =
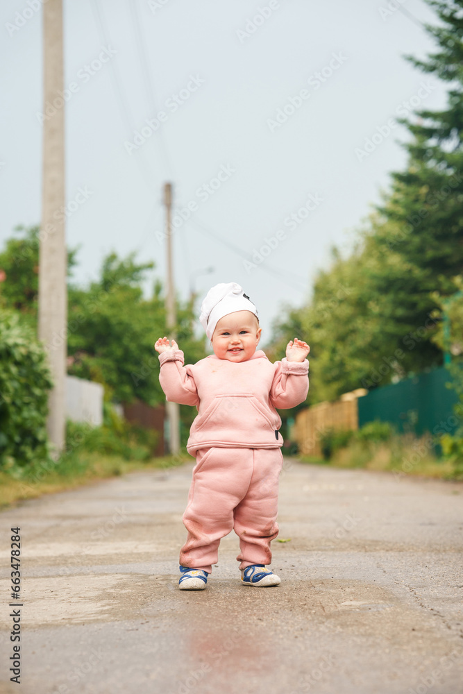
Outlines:
[{"label": "tall, thick concrete utility pole nearest the camera, at left", "polygon": [[[44,342],[54,387],[47,430],[58,457],[65,443],[67,356],[67,253],[65,216],[65,100],[62,67],[62,0],[47,0],[43,12],[42,224],[39,251],[38,337]],[[49,104],[53,108],[49,108]],[[47,108],[48,105],[48,108]]]}]

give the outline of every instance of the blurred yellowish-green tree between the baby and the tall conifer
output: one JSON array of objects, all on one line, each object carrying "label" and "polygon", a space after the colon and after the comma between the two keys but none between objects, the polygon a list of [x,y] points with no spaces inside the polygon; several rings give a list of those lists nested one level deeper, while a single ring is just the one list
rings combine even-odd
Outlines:
[{"label": "blurred yellowish-green tree between the baby and the tall conifer", "polygon": [[394,353],[394,325],[380,311],[369,285],[371,262],[360,241],[345,258],[332,248],[331,266],[319,271],[310,303],[288,311],[287,318],[274,325],[276,352],[295,335],[310,344],[310,404],[404,373]]}]

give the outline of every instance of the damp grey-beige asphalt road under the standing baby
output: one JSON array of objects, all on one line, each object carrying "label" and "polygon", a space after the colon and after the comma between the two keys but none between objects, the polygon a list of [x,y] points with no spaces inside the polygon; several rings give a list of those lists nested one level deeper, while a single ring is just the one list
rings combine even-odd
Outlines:
[{"label": "damp grey-beige asphalt road under the standing baby", "polygon": [[[0,514],[0,694],[460,694],[463,484],[286,459],[273,570],[239,582],[234,532],[178,591],[193,460]],[[22,536],[10,684],[10,527]]]}]

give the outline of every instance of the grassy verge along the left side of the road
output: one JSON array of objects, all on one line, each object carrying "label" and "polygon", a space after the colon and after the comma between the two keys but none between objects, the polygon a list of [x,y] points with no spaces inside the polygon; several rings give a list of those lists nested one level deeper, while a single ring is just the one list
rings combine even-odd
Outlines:
[{"label": "grassy verge along the left side of the road", "polygon": [[178,456],[151,458],[146,461],[127,460],[119,455],[102,455],[98,452],[74,452],[63,456],[53,465],[37,462],[31,468],[15,467],[0,471],[0,508],[14,505],[24,499],[33,499],[67,489],[77,489],[140,470],[166,469],[192,461],[186,452]]}]

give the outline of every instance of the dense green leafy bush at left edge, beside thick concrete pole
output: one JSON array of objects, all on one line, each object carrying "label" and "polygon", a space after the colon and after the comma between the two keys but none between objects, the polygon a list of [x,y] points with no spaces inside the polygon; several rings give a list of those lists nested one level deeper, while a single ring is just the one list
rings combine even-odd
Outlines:
[{"label": "dense green leafy bush at left edge, beside thick concrete pole", "polygon": [[51,460],[47,439],[51,375],[42,345],[18,314],[0,316],[0,468]]}]

